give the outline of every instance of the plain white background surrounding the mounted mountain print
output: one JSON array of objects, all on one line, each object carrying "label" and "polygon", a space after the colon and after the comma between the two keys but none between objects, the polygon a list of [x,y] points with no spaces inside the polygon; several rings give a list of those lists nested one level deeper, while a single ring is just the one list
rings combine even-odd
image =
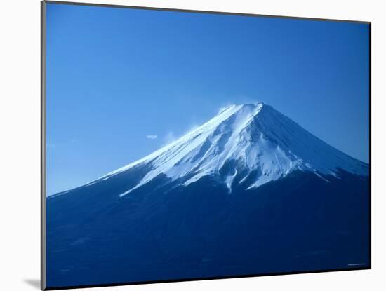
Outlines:
[{"label": "plain white background surrounding the mounted mountain print", "polygon": [[[75,1],[75,0],[74,0]],[[86,0],[85,0],[86,1]],[[229,11],[372,22],[373,269],[292,276],[209,280],[98,290],[384,290],[385,54],[382,1],[98,1],[103,4]],[[40,269],[40,3],[0,4],[0,289],[38,290]],[[70,113],[69,113],[70,114]],[[383,285],[383,287],[382,287]]]}]

